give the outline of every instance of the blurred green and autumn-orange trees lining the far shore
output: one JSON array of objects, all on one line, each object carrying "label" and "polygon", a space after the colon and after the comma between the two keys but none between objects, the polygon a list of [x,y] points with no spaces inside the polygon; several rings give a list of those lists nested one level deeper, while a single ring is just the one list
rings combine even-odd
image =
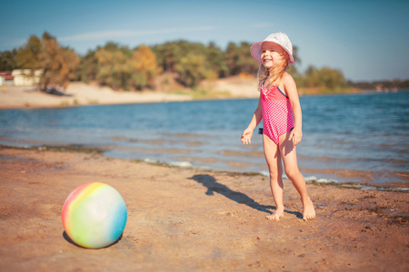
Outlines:
[{"label": "blurred green and autumn-orange trees lining the far shore", "polygon": [[[155,79],[163,73],[175,74],[185,87],[195,88],[203,80],[216,80],[238,74],[255,75],[259,64],[254,62],[251,44],[229,43],[225,50],[214,43],[208,45],[184,40],[133,49],[109,42],[90,50],[84,56],[58,44],[51,34],[41,39],[31,35],[26,43],[12,51],[0,52],[0,71],[42,69],[40,88],[65,87],[70,81],[95,82],[114,90],[155,89]],[[345,88],[344,74],[329,67],[308,67],[297,70],[301,60],[294,46],[294,65],[288,70],[300,88]]]}]

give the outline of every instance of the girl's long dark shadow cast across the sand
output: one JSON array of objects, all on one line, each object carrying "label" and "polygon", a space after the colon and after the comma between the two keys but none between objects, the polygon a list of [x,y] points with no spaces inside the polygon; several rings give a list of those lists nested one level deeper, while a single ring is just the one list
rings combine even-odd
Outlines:
[{"label": "girl's long dark shadow cast across the sand", "polygon": [[[272,214],[273,212],[271,211],[271,209],[275,209],[275,206],[262,205],[254,201],[254,199],[248,197],[246,194],[228,188],[224,184],[217,182],[217,180],[214,179],[213,176],[195,175],[192,178],[189,178],[189,180],[195,180],[196,182],[205,186],[205,188],[207,188],[207,191],[205,192],[205,194],[208,196],[213,196],[214,192],[217,192],[221,195],[224,195],[224,197],[226,197],[227,199],[232,199],[239,204],[247,205],[248,207],[252,209],[257,209],[257,210],[263,211],[268,214]],[[294,214],[299,219],[303,219],[303,214],[301,212],[296,212],[296,211],[291,211],[291,210],[284,210],[284,211],[286,213]]]}]

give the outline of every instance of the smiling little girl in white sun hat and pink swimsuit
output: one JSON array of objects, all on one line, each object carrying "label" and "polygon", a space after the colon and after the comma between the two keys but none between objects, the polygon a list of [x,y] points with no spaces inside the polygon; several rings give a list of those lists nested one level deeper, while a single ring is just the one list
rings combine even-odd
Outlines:
[{"label": "smiling little girl in white sun hat and pink swimsuit", "polygon": [[251,143],[253,131],[263,119],[264,157],[276,206],[267,219],[278,221],[284,216],[282,160],[286,176],[301,196],[303,219],[314,219],[314,205],[298,170],[295,152],[295,146],[303,137],[301,105],[294,79],[285,72],[289,63],[294,63],[293,45],[286,34],[274,33],[253,44],[250,52],[254,60],[261,63],[258,71],[260,100],[241,141]]}]

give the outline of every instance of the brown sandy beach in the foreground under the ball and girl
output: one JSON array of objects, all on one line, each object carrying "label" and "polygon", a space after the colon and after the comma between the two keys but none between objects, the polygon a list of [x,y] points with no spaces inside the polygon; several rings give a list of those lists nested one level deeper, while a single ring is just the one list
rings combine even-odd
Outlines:
[{"label": "brown sandy beach in the foreground under the ball and girl", "polygon": [[[0,149],[1,271],[407,271],[403,191],[308,183],[317,217],[301,219],[284,180],[285,216],[261,175],[109,159],[95,152]],[[101,249],[65,236],[61,209],[86,182],[125,199],[123,237]]]}]

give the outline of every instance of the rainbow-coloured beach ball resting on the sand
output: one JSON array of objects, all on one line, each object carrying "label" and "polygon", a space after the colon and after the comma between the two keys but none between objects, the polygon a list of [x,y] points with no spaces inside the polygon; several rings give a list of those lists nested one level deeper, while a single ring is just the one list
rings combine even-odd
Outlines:
[{"label": "rainbow-coloured beach ball resting on the sand", "polygon": [[100,182],[86,183],[65,199],[65,233],[84,248],[105,248],[121,237],[127,209],[121,194]]}]

